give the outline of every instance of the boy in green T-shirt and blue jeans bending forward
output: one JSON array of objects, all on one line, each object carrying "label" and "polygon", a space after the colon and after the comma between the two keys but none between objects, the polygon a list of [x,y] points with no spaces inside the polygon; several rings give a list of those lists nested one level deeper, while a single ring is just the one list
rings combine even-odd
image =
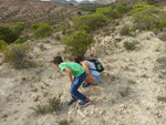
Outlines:
[{"label": "boy in green T-shirt and blue jeans bending forward", "polygon": [[[90,98],[77,91],[83,81],[86,79],[85,70],[77,63],[63,62],[61,56],[55,56],[53,59],[53,63],[58,69],[61,69],[62,71],[68,73],[71,83],[72,95],[72,100],[68,103],[68,105],[73,104],[76,100],[81,100],[81,102],[79,103],[80,106],[89,104]],[[72,77],[72,75],[74,76],[74,79]]]}]

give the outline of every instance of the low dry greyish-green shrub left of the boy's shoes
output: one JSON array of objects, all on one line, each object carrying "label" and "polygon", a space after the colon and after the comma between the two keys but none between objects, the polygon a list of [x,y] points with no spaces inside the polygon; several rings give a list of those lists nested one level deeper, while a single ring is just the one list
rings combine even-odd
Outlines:
[{"label": "low dry greyish-green shrub left of the boy's shoes", "polygon": [[32,110],[37,114],[46,114],[46,113],[53,113],[62,110],[62,105],[63,104],[59,98],[53,97],[53,98],[49,98],[48,104],[37,105],[37,107],[32,107]]}]

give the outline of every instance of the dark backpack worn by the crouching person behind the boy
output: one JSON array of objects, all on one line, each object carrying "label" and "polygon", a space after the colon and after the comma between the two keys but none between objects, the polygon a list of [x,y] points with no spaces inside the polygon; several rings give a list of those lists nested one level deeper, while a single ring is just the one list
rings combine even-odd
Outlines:
[{"label": "dark backpack worn by the crouching person behind the boy", "polygon": [[90,69],[90,70],[97,71],[97,72],[104,71],[104,67],[103,67],[102,63],[98,60],[96,60],[96,59],[91,59],[90,60],[87,58],[86,58],[86,60],[92,62],[95,65],[95,67],[96,67],[96,70],[95,69]]}]

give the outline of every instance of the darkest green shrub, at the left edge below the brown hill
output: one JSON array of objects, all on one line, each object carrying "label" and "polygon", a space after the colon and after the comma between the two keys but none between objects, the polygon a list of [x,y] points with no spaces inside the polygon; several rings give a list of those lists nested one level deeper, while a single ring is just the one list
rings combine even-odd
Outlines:
[{"label": "darkest green shrub, at the left edge below the brown hill", "polygon": [[23,29],[24,24],[22,23],[18,23],[14,27],[0,25],[0,40],[12,43],[21,35]]}]

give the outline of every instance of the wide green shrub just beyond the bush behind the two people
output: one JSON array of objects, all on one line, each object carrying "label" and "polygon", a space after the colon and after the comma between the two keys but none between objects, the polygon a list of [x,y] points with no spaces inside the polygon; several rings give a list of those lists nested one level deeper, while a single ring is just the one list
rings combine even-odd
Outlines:
[{"label": "wide green shrub just beyond the bush behind the two people", "polygon": [[82,27],[86,27],[90,31],[92,31],[104,25],[106,23],[106,17],[103,14],[87,14],[82,17],[74,17],[73,21],[74,28],[76,30]]}]

